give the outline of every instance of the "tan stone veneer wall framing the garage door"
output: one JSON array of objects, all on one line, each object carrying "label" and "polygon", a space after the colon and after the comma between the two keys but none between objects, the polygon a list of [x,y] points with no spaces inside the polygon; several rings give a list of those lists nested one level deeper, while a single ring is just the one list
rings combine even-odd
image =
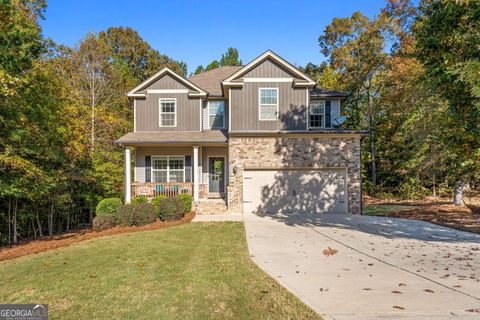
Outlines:
[{"label": "tan stone veneer wall framing the garage door", "polygon": [[[361,213],[360,136],[230,137],[228,210],[241,212],[243,169],[347,168],[348,211]],[[234,168],[236,174],[233,174]]]}]

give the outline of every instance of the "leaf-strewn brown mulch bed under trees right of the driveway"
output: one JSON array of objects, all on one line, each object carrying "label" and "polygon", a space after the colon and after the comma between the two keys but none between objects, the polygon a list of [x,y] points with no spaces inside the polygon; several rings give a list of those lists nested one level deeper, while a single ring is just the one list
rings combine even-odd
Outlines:
[{"label": "leaf-strewn brown mulch bed under trees right of the driveway", "polygon": [[450,199],[426,198],[423,200],[364,199],[365,205],[411,205],[412,210],[388,212],[386,217],[428,221],[441,226],[480,233],[480,214],[472,206],[455,206]]}]

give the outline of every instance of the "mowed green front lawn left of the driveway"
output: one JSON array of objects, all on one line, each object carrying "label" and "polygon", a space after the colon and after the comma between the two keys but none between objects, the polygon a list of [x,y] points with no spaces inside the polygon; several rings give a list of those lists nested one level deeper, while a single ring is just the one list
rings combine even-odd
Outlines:
[{"label": "mowed green front lawn left of the driveway", "polygon": [[97,238],[0,263],[2,303],[50,319],[319,319],[250,259],[239,222]]}]

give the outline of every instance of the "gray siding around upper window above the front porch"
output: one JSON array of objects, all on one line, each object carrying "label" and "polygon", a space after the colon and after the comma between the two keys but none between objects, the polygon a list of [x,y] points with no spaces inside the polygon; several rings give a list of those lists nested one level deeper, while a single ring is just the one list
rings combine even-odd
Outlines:
[{"label": "gray siding around upper window above the front porch", "polygon": [[[177,126],[160,127],[160,98],[177,99]],[[200,99],[186,93],[148,93],[146,99],[136,100],[137,131],[200,131]]]}]

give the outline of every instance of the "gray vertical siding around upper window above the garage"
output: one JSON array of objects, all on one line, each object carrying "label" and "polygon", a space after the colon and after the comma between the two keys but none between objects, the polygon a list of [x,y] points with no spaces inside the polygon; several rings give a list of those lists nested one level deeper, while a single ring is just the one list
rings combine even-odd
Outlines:
[{"label": "gray vertical siding around upper window above the garage", "polygon": [[[275,121],[259,120],[259,88],[278,88],[279,116]],[[291,82],[246,82],[232,88],[231,130],[305,130],[307,90]]]}]

